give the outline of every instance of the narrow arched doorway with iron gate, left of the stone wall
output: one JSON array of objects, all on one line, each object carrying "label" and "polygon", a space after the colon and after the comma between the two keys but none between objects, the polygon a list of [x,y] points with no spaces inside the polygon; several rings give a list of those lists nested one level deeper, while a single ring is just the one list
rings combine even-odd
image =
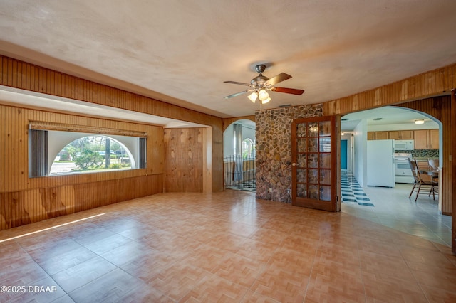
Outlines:
[{"label": "narrow arched doorway with iron gate, left of the stone wall", "polygon": [[224,188],[256,191],[255,122],[239,119],[223,133]]}]

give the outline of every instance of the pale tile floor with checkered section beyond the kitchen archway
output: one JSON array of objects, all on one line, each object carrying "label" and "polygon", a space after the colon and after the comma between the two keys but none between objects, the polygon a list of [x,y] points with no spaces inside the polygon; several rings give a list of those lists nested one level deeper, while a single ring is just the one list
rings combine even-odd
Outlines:
[{"label": "pale tile floor with checkered section beyond the kitchen archway", "polygon": [[396,184],[394,188],[361,188],[353,175],[342,174],[341,211],[450,246],[451,217],[439,213],[437,198],[420,195],[415,202],[415,193],[408,198],[412,187]]}]

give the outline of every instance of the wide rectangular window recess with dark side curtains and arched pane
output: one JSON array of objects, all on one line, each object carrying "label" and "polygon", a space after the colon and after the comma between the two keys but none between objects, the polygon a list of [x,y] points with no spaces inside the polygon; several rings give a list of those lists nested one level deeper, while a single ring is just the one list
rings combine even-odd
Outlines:
[{"label": "wide rectangular window recess with dark side curtains and arched pane", "polygon": [[146,138],[29,129],[28,159],[29,177],[144,169]]}]

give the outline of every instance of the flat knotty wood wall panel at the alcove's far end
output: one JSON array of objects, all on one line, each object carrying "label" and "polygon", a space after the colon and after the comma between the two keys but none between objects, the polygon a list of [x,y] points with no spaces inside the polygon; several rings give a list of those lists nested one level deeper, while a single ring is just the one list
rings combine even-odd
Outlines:
[{"label": "flat knotty wood wall panel at the alcove's far end", "polygon": [[165,129],[165,182],[167,193],[203,191],[204,129]]}]

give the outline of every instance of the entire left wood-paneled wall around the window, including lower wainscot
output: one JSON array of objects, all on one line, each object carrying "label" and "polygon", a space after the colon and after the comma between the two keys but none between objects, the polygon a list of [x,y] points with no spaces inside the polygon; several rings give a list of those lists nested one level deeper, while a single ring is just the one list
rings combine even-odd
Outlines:
[{"label": "entire left wood-paneled wall around the window, including lower wainscot", "polygon": [[[147,134],[147,169],[28,178],[28,124]],[[162,127],[0,105],[0,230],[163,191]]]}]

